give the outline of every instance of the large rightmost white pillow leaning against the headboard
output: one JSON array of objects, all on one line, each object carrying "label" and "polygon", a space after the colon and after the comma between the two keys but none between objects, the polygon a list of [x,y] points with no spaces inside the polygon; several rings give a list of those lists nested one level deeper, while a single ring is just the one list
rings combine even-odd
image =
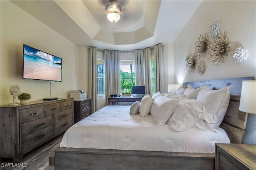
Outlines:
[{"label": "large rightmost white pillow leaning against the headboard", "polygon": [[196,100],[204,104],[205,109],[212,115],[216,122],[214,129],[220,126],[228,109],[230,100],[229,86],[218,89],[210,90],[208,87],[202,85]]}]

